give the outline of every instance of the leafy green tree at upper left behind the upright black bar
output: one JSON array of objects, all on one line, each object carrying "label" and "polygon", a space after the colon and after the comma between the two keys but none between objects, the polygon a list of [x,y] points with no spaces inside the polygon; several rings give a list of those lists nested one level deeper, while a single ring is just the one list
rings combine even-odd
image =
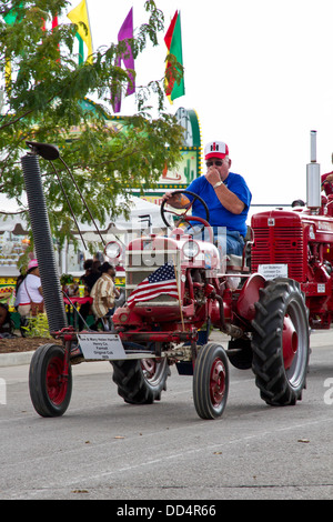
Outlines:
[{"label": "leafy green tree at upper left behind the upright black bar", "polygon": [[[155,2],[145,1],[144,7],[149,20],[131,41],[134,58],[149,42],[157,46],[163,30],[163,13]],[[92,63],[79,64],[73,56],[77,26],[48,29],[52,17],[70,9],[65,0],[0,1],[0,68],[4,71],[11,63],[12,71],[6,78],[0,116],[0,191],[20,203],[26,141],[56,143],[92,215],[104,223],[108,215],[124,210],[117,205],[118,194],[128,198],[129,188],[152,187],[165,163],[176,164],[182,128],[164,110],[163,79],[139,89],[137,113],[127,118],[124,132],[105,126],[105,116],[112,114],[110,92],[128,84],[128,73],[114,66],[124,43],[99,48]],[[6,23],[9,12],[14,23]],[[99,102],[91,111],[82,100],[94,96]],[[152,108],[158,117],[151,116]],[[71,139],[74,127],[80,133]],[[59,161],[57,167],[77,218],[89,221],[64,167]],[[41,160],[41,171],[51,229],[62,243],[74,229],[73,221],[52,165]]]}]

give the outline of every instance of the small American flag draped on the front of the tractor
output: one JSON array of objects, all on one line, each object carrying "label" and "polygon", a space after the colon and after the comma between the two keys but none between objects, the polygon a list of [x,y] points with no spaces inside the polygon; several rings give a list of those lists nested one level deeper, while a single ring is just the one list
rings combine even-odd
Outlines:
[{"label": "small American flag draped on the front of the tractor", "polygon": [[141,283],[138,284],[128,299],[129,308],[133,308],[138,301],[149,301],[162,293],[178,298],[175,271],[173,263],[165,263],[152,272]]}]

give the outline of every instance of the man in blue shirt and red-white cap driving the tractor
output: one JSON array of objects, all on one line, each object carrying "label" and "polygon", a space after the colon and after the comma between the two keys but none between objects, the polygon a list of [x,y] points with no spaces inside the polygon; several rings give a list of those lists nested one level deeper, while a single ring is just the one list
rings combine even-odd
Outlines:
[{"label": "man in blue shirt and red-white cap driving the tractor", "polygon": [[[219,242],[226,240],[226,253],[242,255],[252,194],[243,177],[230,171],[226,143],[209,142],[204,148],[204,159],[206,173],[194,179],[186,190],[205,201],[214,237]],[[190,207],[192,200],[190,194],[167,192],[163,195],[163,201],[175,209]],[[198,200],[193,201],[192,215],[204,218],[204,209]]]}]

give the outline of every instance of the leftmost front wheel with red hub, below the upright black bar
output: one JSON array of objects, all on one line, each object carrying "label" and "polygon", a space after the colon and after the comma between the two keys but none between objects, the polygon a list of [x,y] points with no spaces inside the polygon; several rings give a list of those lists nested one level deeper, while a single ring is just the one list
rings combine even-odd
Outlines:
[{"label": "leftmost front wheel with red hub, below the upright black bar", "polygon": [[43,344],[32,355],[29,370],[30,398],[41,416],[60,416],[72,394],[72,371],[63,375],[64,350],[58,344]]}]

